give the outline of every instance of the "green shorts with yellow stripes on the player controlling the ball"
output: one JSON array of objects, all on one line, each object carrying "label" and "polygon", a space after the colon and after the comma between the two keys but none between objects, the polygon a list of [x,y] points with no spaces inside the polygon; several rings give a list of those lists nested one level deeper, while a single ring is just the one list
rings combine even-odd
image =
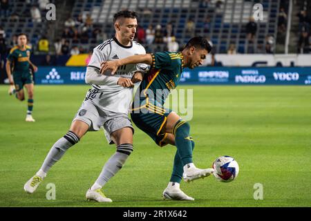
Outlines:
[{"label": "green shorts with yellow stripes on the player controlling the ball", "polygon": [[164,124],[167,122],[167,116],[171,110],[162,106],[153,104],[144,104],[139,108],[132,108],[131,119],[140,130],[147,133],[156,144],[165,146],[164,142],[167,133],[161,133]]}]

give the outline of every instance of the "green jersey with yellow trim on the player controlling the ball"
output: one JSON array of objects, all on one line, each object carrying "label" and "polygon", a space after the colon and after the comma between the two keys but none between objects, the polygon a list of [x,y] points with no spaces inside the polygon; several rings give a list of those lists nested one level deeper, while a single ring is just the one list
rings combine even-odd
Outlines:
[{"label": "green jersey with yellow trim on the player controlling the ball", "polygon": [[[181,52],[156,52],[152,55],[149,73],[144,76],[135,93],[133,108],[148,104],[163,106],[173,88],[178,86],[183,68]],[[140,102],[138,102],[138,99]]]}]

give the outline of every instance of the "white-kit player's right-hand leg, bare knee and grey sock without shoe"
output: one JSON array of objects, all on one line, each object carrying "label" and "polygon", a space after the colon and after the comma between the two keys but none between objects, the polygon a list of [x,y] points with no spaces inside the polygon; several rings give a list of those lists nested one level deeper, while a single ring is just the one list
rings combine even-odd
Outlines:
[{"label": "white-kit player's right-hand leg, bare knee and grey sock without shoe", "polygon": [[127,158],[133,151],[133,131],[130,127],[120,128],[111,133],[113,142],[117,145],[117,151],[104,165],[100,176],[91,186],[91,190],[101,189],[125,164]]}]

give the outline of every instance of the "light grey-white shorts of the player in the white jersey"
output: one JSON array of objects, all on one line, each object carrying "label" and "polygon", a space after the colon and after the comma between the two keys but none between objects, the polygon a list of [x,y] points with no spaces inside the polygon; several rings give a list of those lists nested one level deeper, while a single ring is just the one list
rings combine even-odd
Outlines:
[{"label": "light grey-white shorts of the player in the white jersey", "polygon": [[129,115],[124,113],[114,113],[111,111],[104,111],[93,102],[85,101],[77,111],[73,122],[80,120],[88,124],[88,131],[99,131],[101,127],[104,128],[104,133],[109,144],[114,144],[111,140],[111,133],[124,128],[130,127],[134,133],[134,128],[129,119]]}]

